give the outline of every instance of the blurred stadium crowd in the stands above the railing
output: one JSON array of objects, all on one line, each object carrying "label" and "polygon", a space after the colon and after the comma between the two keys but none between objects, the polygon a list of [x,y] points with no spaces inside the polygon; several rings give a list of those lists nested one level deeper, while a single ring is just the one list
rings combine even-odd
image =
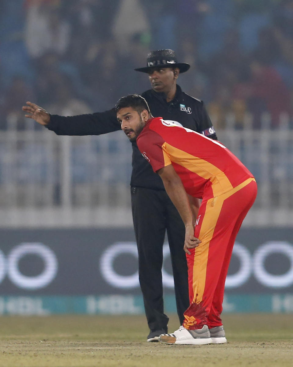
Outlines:
[{"label": "blurred stadium crowd in the stands above the railing", "polygon": [[161,48],[191,64],[180,84],[216,128],[246,112],[257,128],[264,111],[292,126],[293,0],[0,0],[0,129],[23,129],[29,100],[60,115],[112,108],[148,87],[133,69]]}]

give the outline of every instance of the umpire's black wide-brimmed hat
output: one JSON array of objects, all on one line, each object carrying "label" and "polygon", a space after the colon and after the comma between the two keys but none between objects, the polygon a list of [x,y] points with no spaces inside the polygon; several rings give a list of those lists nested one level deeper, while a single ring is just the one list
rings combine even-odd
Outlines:
[{"label": "umpire's black wide-brimmed hat", "polygon": [[177,62],[175,51],[158,50],[151,51],[147,55],[147,67],[134,69],[143,73],[148,73],[151,68],[179,68],[180,73],[185,73],[190,65],[185,62]]}]

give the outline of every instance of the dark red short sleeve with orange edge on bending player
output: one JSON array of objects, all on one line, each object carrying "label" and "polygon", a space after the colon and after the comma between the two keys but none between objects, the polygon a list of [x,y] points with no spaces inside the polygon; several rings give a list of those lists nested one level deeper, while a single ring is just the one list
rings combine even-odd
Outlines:
[{"label": "dark red short sleeve with orange edge on bending player", "polygon": [[154,172],[171,164],[170,157],[163,147],[164,141],[158,137],[161,138],[155,132],[149,132],[136,141],[140,153],[151,164]]}]

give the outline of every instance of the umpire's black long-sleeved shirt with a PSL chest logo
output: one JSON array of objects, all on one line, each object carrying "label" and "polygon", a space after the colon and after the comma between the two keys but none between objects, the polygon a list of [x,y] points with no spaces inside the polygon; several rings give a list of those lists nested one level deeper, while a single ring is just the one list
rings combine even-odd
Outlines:
[{"label": "umpire's black long-sleeved shirt with a PSL chest logo", "polygon": [[[143,92],[142,97],[146,99],[154,117],[160,116],[164,120],[178,121],[184,127],[217,139],[203,101],[184,93],[180,86],[177,85],[175,97],[170,102],[166,101],[164,93],[157,93],[152,89]],[[51,115],[46,127],[55,131],[57,135],[101,135],[121,129],[114,108],[105,112],[78,116]],[[132,143],[130,185],[164,190],[161,178],[153,172],[149,162],[139,152],[136,143]]]}]

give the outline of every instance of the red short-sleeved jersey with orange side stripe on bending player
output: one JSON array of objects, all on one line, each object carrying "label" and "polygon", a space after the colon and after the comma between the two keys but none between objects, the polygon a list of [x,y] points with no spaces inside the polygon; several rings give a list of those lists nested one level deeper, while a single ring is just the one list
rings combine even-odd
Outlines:
[{"label": "red short-sleeved jersey with orange side stripe on bending player", "polygon": [[162,117],[147,121],[136,142],[154,172],[172,164],[186,192],[200,199],[221,195],[253,177],[218,141]]}]

